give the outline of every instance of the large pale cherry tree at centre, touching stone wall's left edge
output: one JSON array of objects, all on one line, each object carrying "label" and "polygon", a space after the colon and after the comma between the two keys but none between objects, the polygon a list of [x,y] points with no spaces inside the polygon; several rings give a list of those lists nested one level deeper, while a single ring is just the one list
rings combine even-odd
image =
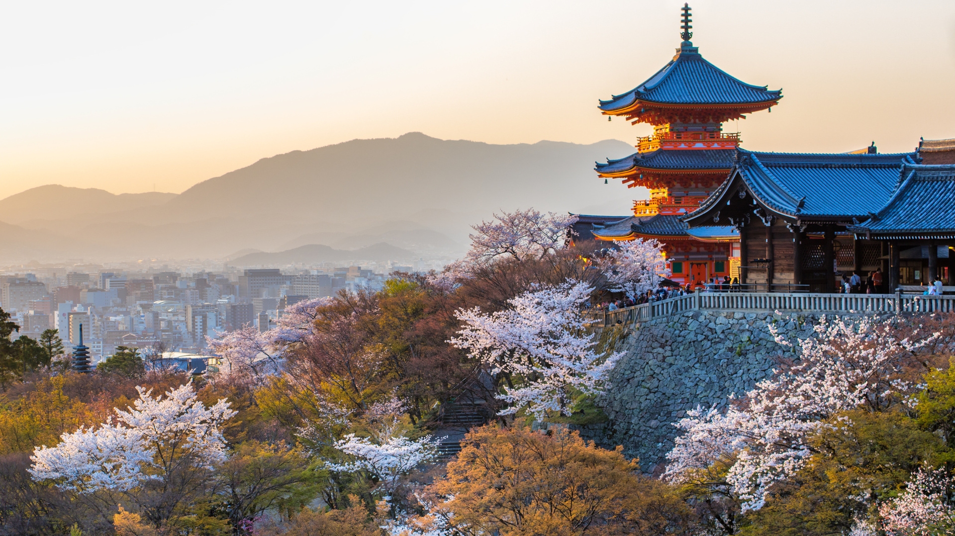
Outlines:
[{"label": "large pale cherry tree at centre, touching stone wall's left edge", "polygon": [[[568,394],[576,389],[596,393],[622,355],[597,352],[598,341],[584,331],[581,313],[593,287],[572,280],[528,290],[508,300],[509,309],[485,314],[479,308],[459,310],[464,327],[449,342],[481,359],[506,381],[510,404],[499,415],[522,407],[537,418],[550,411],[569,415]],[[520,384],[512,383],[520,376]]]}]

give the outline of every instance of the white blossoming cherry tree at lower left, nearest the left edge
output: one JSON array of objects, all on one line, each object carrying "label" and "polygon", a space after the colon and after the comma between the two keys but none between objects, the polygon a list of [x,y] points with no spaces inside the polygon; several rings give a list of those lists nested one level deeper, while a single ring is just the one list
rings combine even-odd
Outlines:
[{"label": "white blossoming cherry tree at lower left, nearest the left edge", "polygon": [[[147,479],[168,473],[173,458],[188,455],[201,467],[211,468],[226,457],[220,426],[236,412],[220,399],[205,407],[192,383],[151,397],[152,390],[137,387],[138,399],[129,411],[116,408],[97,428],[80,427],[60,436],[54,447],[36,447],[31,460],[33,480],[53,479],[63,490],[129,490]],[[160,451],[163,456],[160,457]]]}]

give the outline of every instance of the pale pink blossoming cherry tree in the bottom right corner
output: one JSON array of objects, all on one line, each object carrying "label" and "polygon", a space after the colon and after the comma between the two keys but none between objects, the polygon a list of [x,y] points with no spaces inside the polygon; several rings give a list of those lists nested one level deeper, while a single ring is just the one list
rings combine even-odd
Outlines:
[{"label": "pale pink blossoming cherry tree in the bottom right corner", "polygon": [[920,468],[902,494],[882,504],[879,514],[888,536],[935,536],[955,530],[955,504],[947,497],[955,478],[944,467]]}]

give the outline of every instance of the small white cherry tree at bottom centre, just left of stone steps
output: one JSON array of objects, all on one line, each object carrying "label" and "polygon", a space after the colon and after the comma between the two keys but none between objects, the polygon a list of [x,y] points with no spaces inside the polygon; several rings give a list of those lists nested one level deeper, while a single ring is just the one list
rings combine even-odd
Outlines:
[{"label": "small white cherry tree at bottom centre, just left of stone steps", "polygon": [[402,475],[421,463],[437,457],[439,439],[431,436],[410,440],[401,431],[401,417],[406,405],[394,395],[372,404],[365,414],[371,430],[370,438],[349,434],[334,447],[352,461],[329,463],[329,469],[342,472],[368,471],[376,476],[386,491],[393,491]]}]

